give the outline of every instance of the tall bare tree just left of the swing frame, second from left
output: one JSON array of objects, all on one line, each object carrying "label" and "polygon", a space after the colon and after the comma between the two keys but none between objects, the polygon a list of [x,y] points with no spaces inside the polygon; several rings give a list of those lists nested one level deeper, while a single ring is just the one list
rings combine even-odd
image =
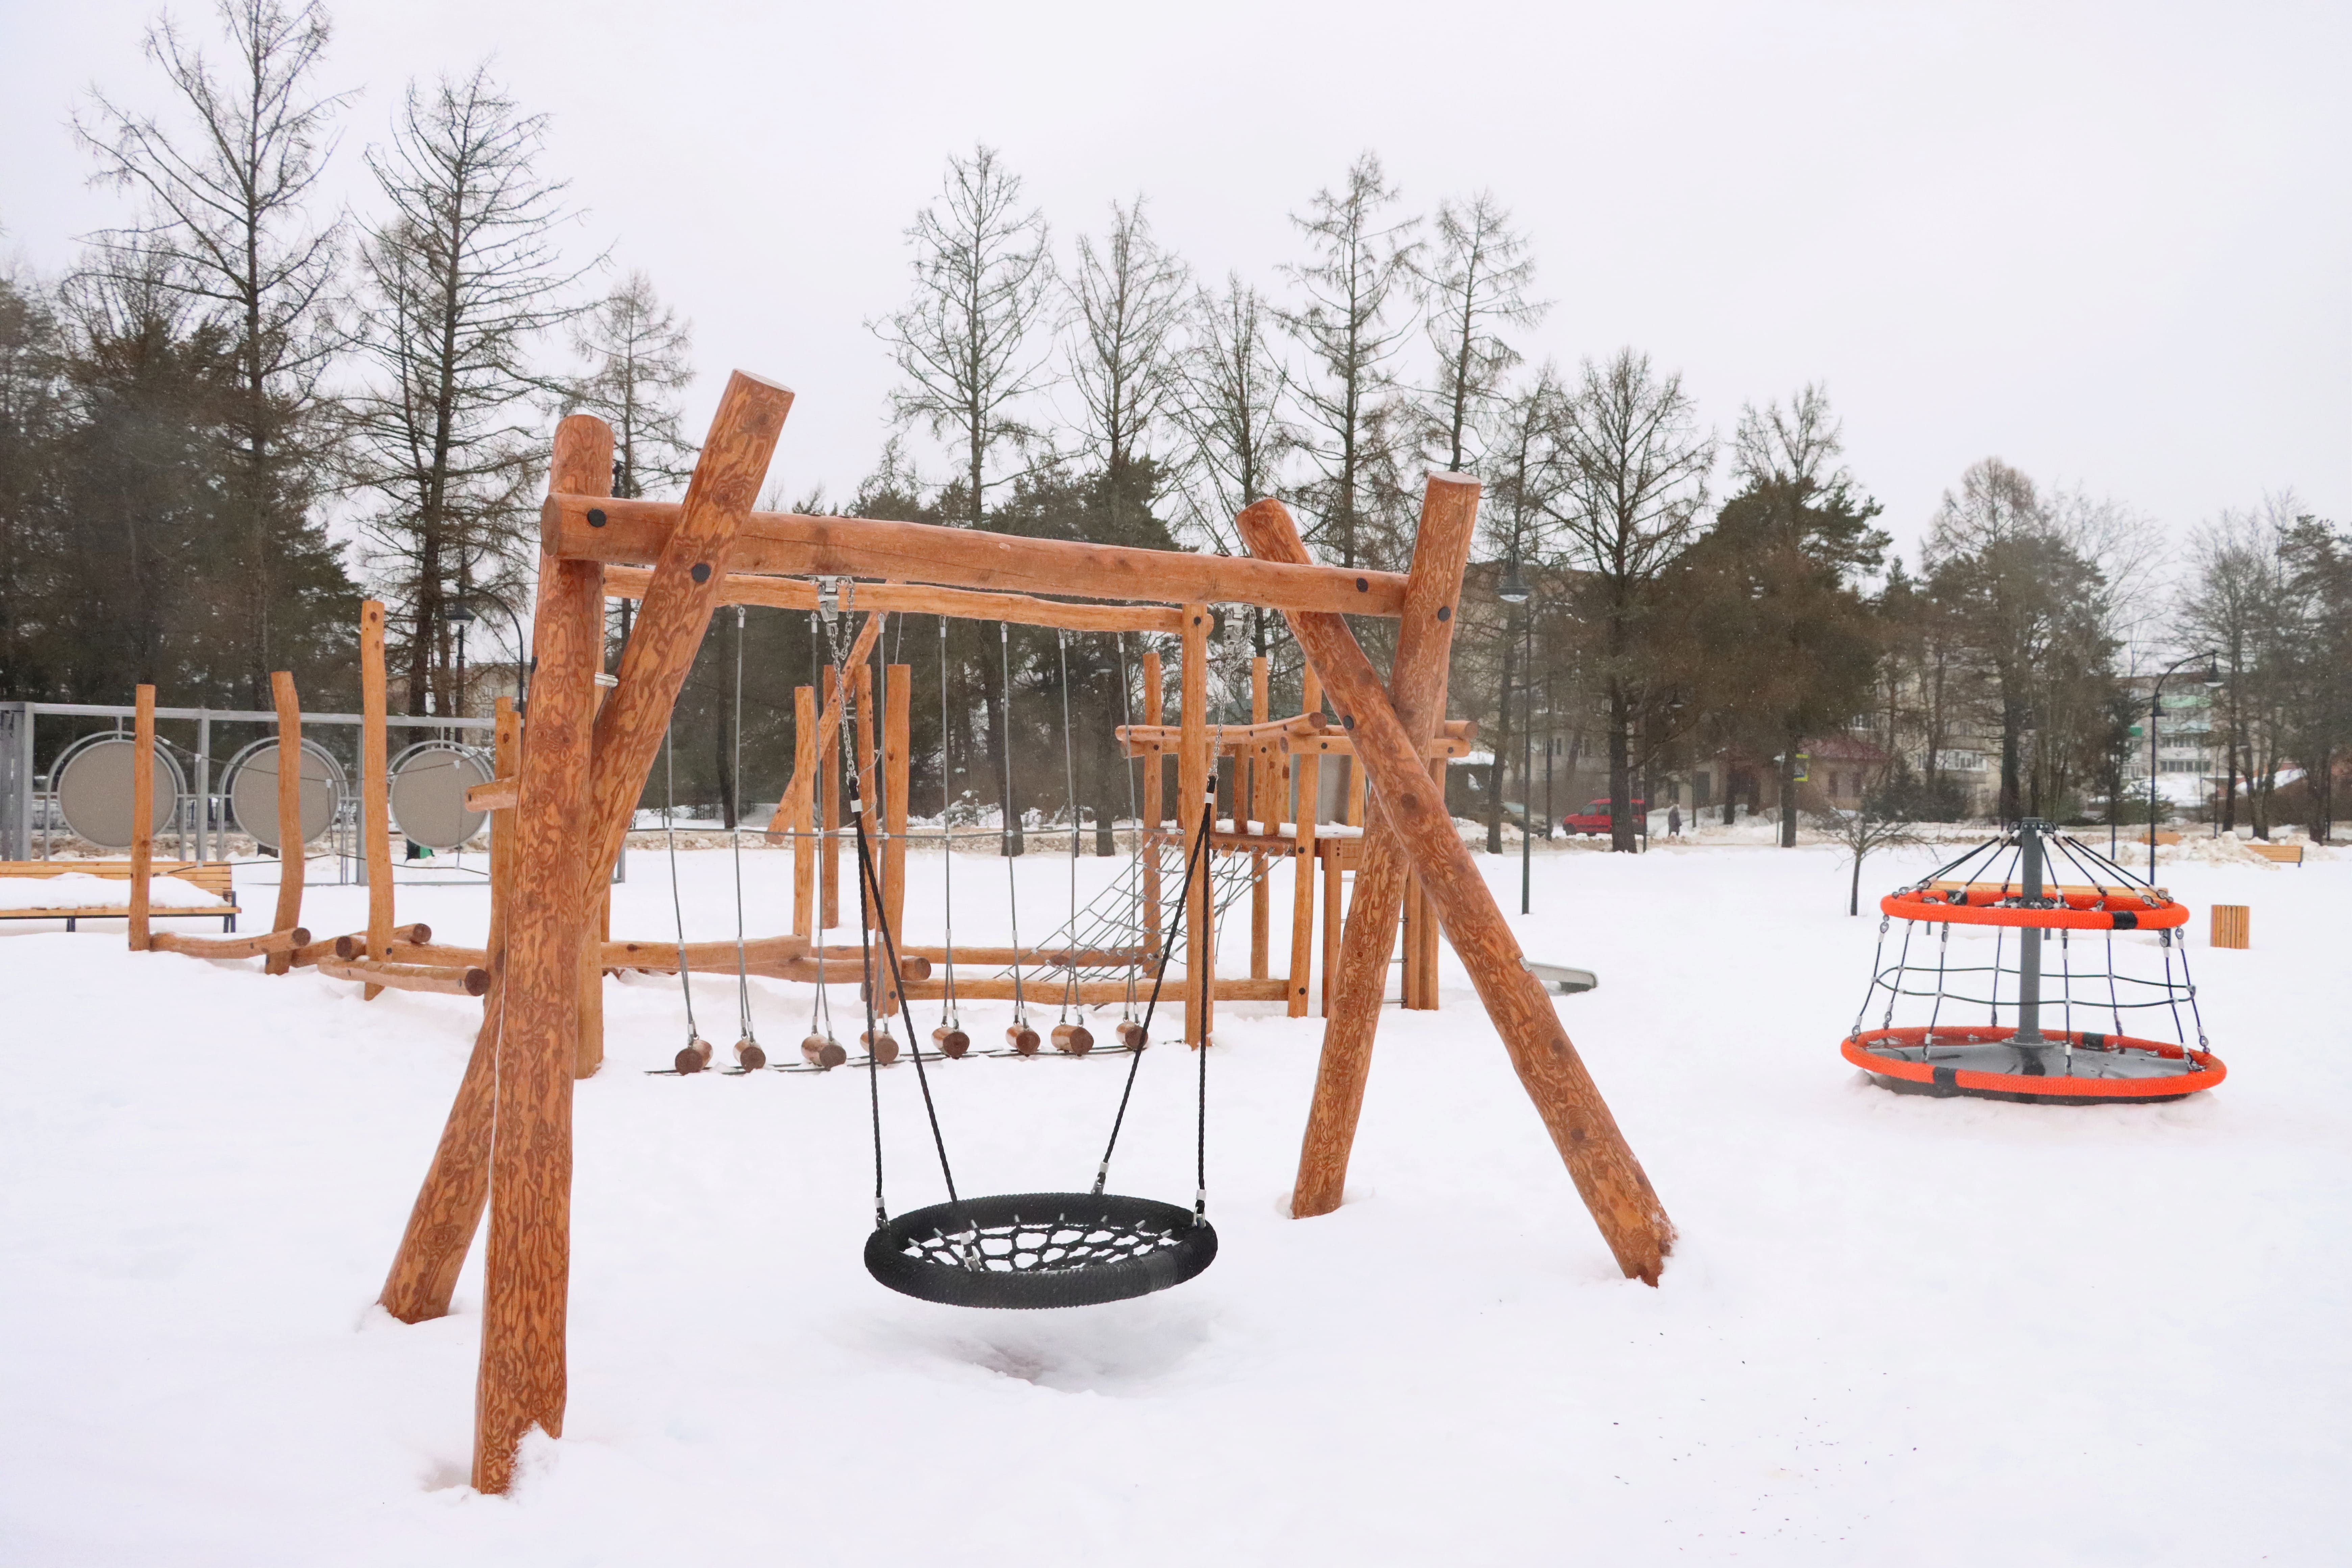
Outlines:
[{"label": "tall bare tree just left of the swing frame, second from left", "polygon": [[[360,244],[353,343],[374,371],[350,400],[362,531],[400,607],[409,712],[449,712],[452,599],[520,597],[536,536],[536,404],[562,388],[532,353],[588,306],[555,244],[564,183],[541,179],[546,115],[489,68],[409,85],[393,141],[367,167],[386,200]],[[428,708],[428,693],[433,705]]]}]

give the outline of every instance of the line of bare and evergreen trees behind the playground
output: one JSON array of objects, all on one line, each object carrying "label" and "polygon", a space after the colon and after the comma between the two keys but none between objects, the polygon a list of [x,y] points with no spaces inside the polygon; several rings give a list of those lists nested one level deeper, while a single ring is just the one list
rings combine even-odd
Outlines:
[{"label": "line of bare and evergreen trees behind the playground", "polygon": [[[644,273],[560,244],[579,214],[543,167],[546,115],[487,66],[412,82],[358,153],[365,200],[332,209],[350,99],[322,85],[329,33],[318,5],[221,0],[202,35],[148,33],[169,113],[75,110],[125,219],[64,277],[0,277],[0,696],[118,703],[153,679],[259,708],[292,668],[313,703],[348,703],[365,592],[390,604],[407,710],[482,712],[515,679],[553,418],[614,425],[616,494],[691,468],[689,327]],[[1606,792],[1632,846],[1630,802],[1710,757],[1780,771],[1792,842],[1823,736],[1872,743],[1877,813],[2124,813],[2131,677],[2183,656],[2223,679],[2223,811],[2267,830],[2300,766],[2324,832],[2352,733],[2352,543],[2291,494],[2171,562],[2150,520],[1983,458],[1905,562],[1823,388],[1762,397],[1722,437],[1637,348],[1538,357],[1552,303],[1494,193],[1421,212],[1367,153],[1291,221],[1265,277],[1202,277],[1143,195],[1063,240],[997,150],[948,158],[906,233],[908,294],[870,322],[889,433],[837,510],[1237,550],[1232,515],[1282,496],[1319,557],[1402,569],[1423,477],[1477,475],[1451,708],[1501,759],[1496,844],[1557,771],[1569,804]],[[1362,630],[1381,656],[1383,628]],[[1129,813],[1110,726],[1141,642],[920,621],[889,649],[915,670],[917,811],[1011,790],[1049,818],[1075,790],[1089,818]],[[1279,618],[1230,616],[1216,649],[1223,712],[1247,712],[1251,656],[1296,710]],[[804,616],[722,611],[656,804],[774,799],[790,689],[818,663]],[[1950,766],[1980,750],[1990,799]]]}]

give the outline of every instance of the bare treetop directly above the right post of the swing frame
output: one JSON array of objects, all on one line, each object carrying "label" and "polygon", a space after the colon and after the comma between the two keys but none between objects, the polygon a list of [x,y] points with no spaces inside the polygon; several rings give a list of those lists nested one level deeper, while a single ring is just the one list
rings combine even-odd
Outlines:
[{"label": "bare treetop directly above the right post of the swing frame", "polygon": [[1439,202],[1437,242],[1425,254],[1428,334],[1437,383],[1423,407],[1423,447],[1454,473],[1477,465],[1472,442],[1519,350],[1503,327],[1534,327],[1550,310],[1526,296],[1536,259],[1491,190],[1468,205]]}]

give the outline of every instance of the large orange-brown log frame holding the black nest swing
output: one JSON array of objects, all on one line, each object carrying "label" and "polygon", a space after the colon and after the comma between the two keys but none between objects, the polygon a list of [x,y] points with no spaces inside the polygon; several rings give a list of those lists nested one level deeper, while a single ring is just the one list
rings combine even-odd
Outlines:
[{"label": "large orange-brown log frame holding the black nest swing", "polygon": [[[1317,567],[1289,512],[1261,501],[1242,512],[1249,557],[1127,550],[1014,538],[974,529],[858,517],[753,512],[753,496],[790,411],[774,381],[729,376],[682,503],[609,496],[612,430],[583,414],[562,421],[541,512],[536,675],[513,806],[510,896],[492,933],[482,1032],[440,1147],[409,1215],[383,1305],[416,1321],[447,1312],[466,1248],[489,1213],[482,1356],[475,1385],[473,1483],[503,1493],[515,1450],[539,1427],[562,1436],[564,1324],[572,1251],[572,1084],[583,1030],[595,1027],[602,950],[597,910],[630,813],[668,726],[710,614],[734,574],[769,578],[882,578],[858,588],[868,609],[1002,614],[997,595],[1070,592],[1148,602],[1145,630],[1183,639],[1181,729],[1207,731],[1209,604],[1282,611],[1371,778],[1371,818],[1355,914],[1331,978],[1322,1067],[1301,1152],[1294,1213],[1338,1206],[1371,1063],[1397,912],[1409,884],[1425,893],[1470,971],[1529,1098],[1618,1267],[1658,1281],[1672,1225],[1625,1145],[1592,1077],[1559,1027],[1543,983],[1526,973],[1503,912],[1444,809],[1428,757],[1439,736],[1454,611],[1477,517],[1477,484],[1432,475],[1409,574]],[[628,588],[642,609],[602,710],[607,571],[644,571]],[[802,585],[760,583],[797,607]],[[807,590],[814,602],[814,588]],[[971,592],[988,607],[943,597]],[[746,599],[750,602],[750,599]],[[1124,609],[1051,604],[1037,614],[1098,616],[1082,630],[1124,625]],[[1345,616],[1402,618],[1390,682],[1374,675]],[[1211,755],[1178,755],[1178,799],[1207,792]],[[1298,816],[1312,816],[1301,809]],[[506,837],[506,835],[501,835]],[[1185,969],[1211,973],[1209,882],[1188,889]],[[1385,917],[1383,917],[1385,910]],[[1411,966],[1409,966],[1411,969]],[[1188,1039],[1211,1034],[1214,987],[1188,987]],[[496,1138],[492,1135],[496,1128]]]}]

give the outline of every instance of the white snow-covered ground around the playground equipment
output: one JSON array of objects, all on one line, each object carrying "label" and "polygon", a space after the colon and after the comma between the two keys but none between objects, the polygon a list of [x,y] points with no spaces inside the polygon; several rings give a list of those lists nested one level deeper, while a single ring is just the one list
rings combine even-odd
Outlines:
[{"label": "white snow-covered ground around the playground equipment", "polygon": [[[689,938],[731,936],[727,867],[682,856]],[[788,858],[746,867],[753,929],[788,929]],[[1486,867],[1515,910],[1517,856]],[[917,940],[938,870],[913,860]],[[668,936],[663,860],[630,872],[616,931]],[[1065,875],[1021,863],[1023,936]],[[372,1305],[480,1006],[0,929],[0,1563],[2343,1563],[2352,858],[2164,879],[2230,1081],[2070,1110],[1839,1060],[1877,919],[1835,849],[1538,856],[1524,945],[1599,971],[1562,1018],[1682,1227],[1656,1291],[1451,954],[1444,1011],[1381,1025],[1336,1215],[1284,1213],[1319,1020],[1225,1006],[1216,1267],[1035,1316],[866,1276],[863,1077],[647,1077],[677,987],[614,980],[567,1434],[508,1497],[466,1486],[477,1269],[449,1319]],[[1002,863],[955,882],[957,938],[1004,940]],[[362,898],[318,889],[306,924]],[[2206,950],[2209,903],[2253,907],[2251,952]],[[400,917],[480,940],[485,893]],[[809,992],[753,990],[790,1056]],[[722,1056],[731,992],[696,987]],[[1117,1187],[1190,1194],[1190,1065],[1143,1060]],[[1120,1074],[943,1065],[967,1190],[1084,1185]],[[913,1072],[882,1093],[891,1204],[934,1201]]]}]

